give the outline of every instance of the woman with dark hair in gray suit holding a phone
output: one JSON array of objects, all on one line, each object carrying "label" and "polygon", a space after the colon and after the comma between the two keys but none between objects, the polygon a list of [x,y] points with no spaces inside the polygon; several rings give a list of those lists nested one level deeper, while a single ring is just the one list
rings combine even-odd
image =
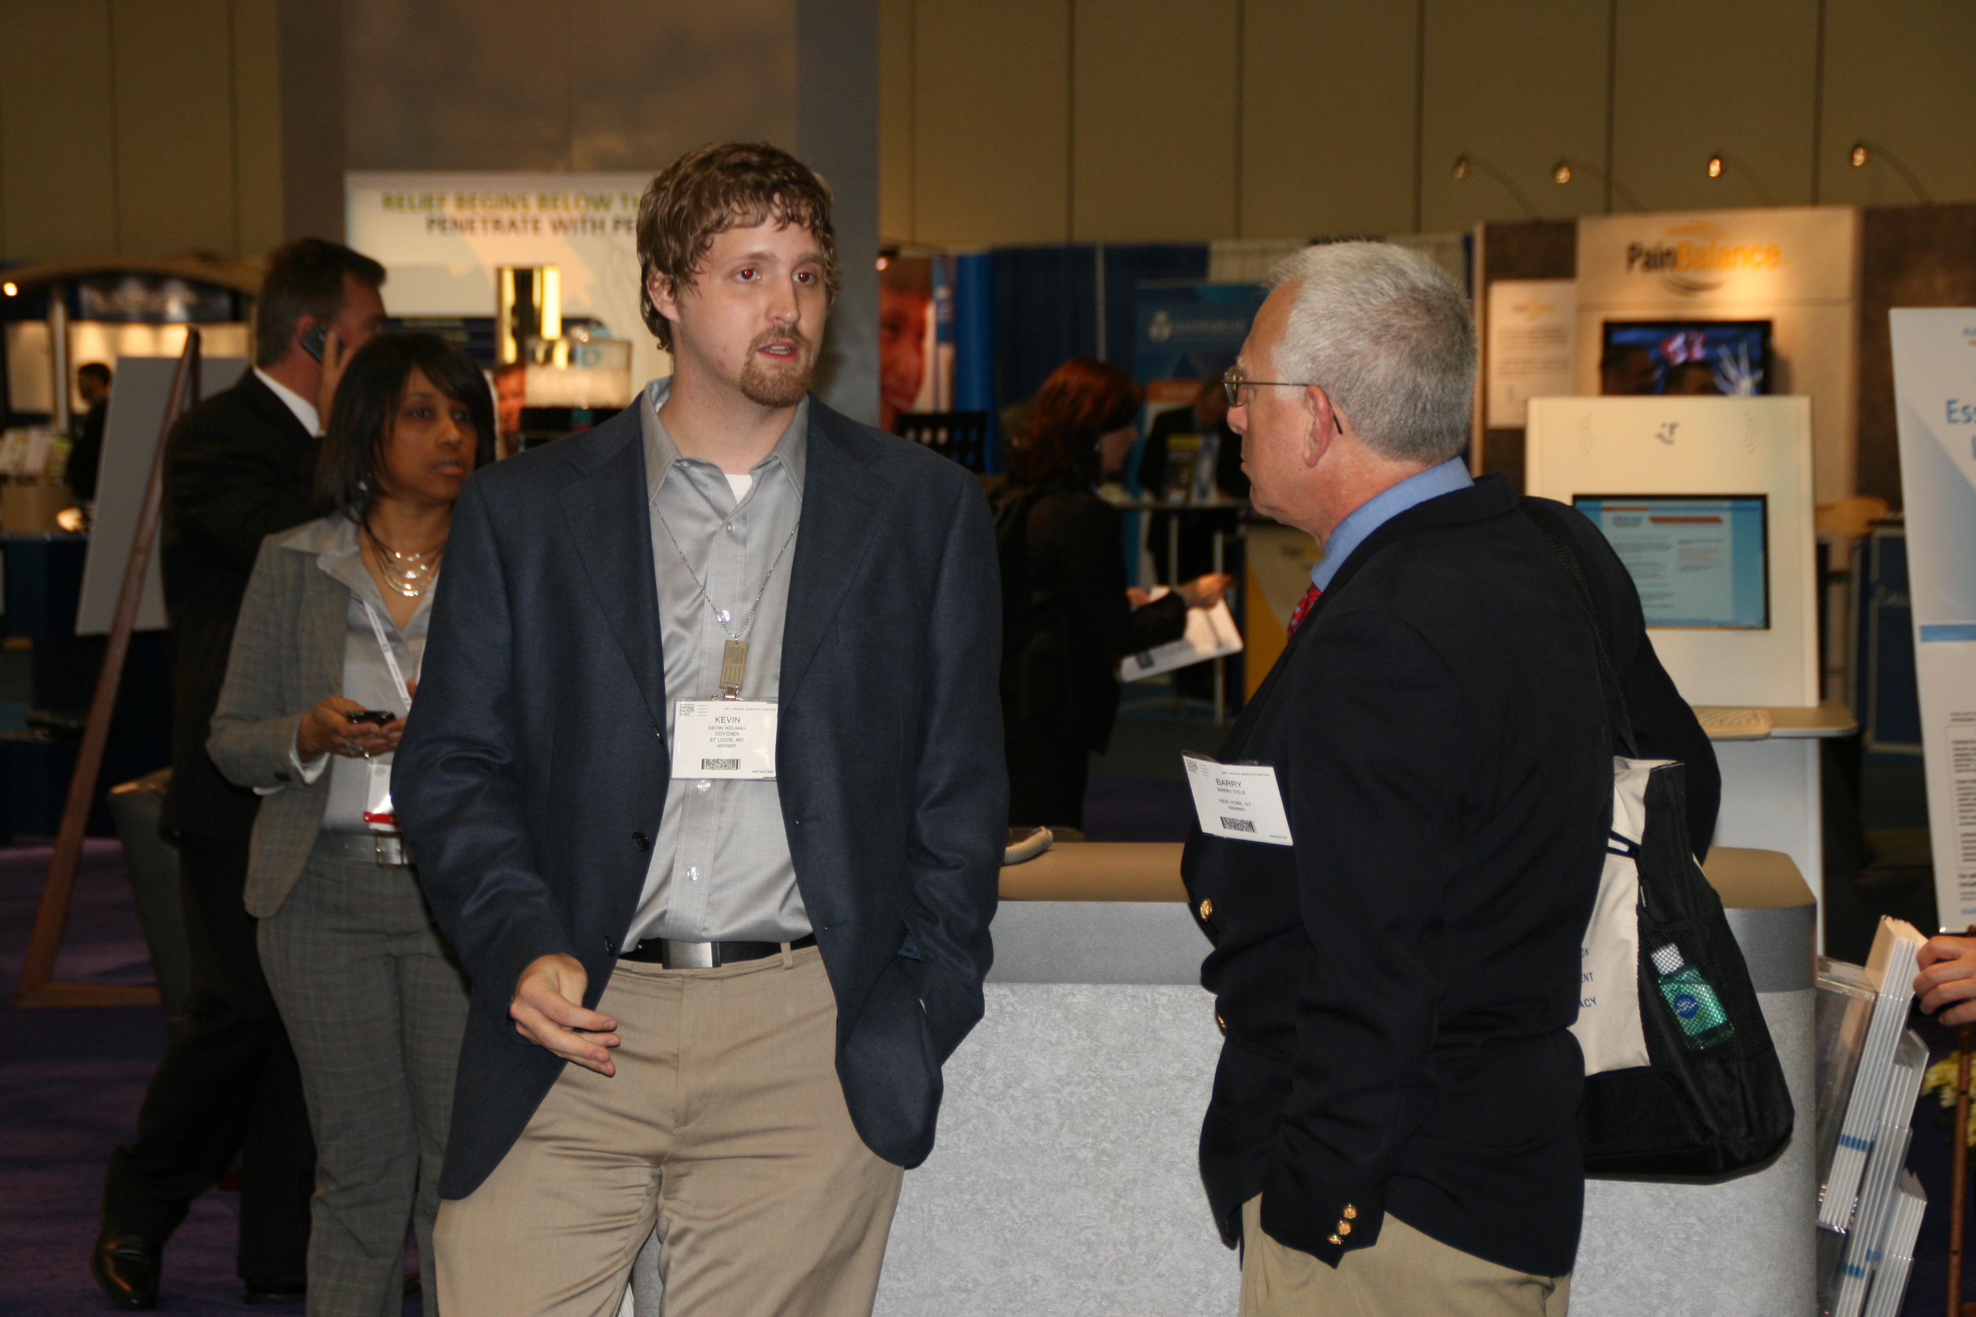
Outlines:
[{"label": "woman with dark hair in gray suit holding a phone", "polygon": [[247,912],[316,1133],[310,1317],[395,1315],[407,1222],[433,1258],[466,981],[397,833],[391,750],[453,504],[492,458],[464,351],[431,334],[360,348],[316,468],[332,511],[261,545],[207,740],[263,796]]}]

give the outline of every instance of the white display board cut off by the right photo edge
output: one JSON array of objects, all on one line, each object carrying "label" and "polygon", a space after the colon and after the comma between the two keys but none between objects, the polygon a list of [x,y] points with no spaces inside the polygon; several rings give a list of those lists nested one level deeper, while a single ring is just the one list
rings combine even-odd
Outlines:
[{"label": "white display board cut off by the right photo edge", "polygon": [[1935,900],[1960,930],[1976,922],[1976,308],[1891,318]]}]

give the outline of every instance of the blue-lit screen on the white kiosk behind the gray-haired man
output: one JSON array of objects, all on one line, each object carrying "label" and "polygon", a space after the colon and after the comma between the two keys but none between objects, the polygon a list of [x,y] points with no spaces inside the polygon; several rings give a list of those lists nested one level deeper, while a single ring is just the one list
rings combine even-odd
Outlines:
[{"label": "blue-lit screen on the white kiosk behind the gray-haired man", "polygon": [[1770,628],[1763,494],[1579,494],[1640,590],[1648,626]]}]

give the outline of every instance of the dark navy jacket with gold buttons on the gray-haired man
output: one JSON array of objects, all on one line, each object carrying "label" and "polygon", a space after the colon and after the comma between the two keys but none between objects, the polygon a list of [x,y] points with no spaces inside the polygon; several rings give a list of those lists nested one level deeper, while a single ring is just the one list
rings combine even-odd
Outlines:
[{"label": "dark navy jacket with gold buttons on the gray-haired man", "polygon": [[[1648,758],[1719,776],[1599,531],[1565,523]],[[1188,839],[1227,1041],[1201,1127],[1223,1234],[1332,1266],[1391,1212],[1498,1266],[1571,1270],[1581,934],[1612,768],[1585,614],[1494,476],[1399,513],[1332,579],[1221,748],[1276,768],[1294,845]]]}]

